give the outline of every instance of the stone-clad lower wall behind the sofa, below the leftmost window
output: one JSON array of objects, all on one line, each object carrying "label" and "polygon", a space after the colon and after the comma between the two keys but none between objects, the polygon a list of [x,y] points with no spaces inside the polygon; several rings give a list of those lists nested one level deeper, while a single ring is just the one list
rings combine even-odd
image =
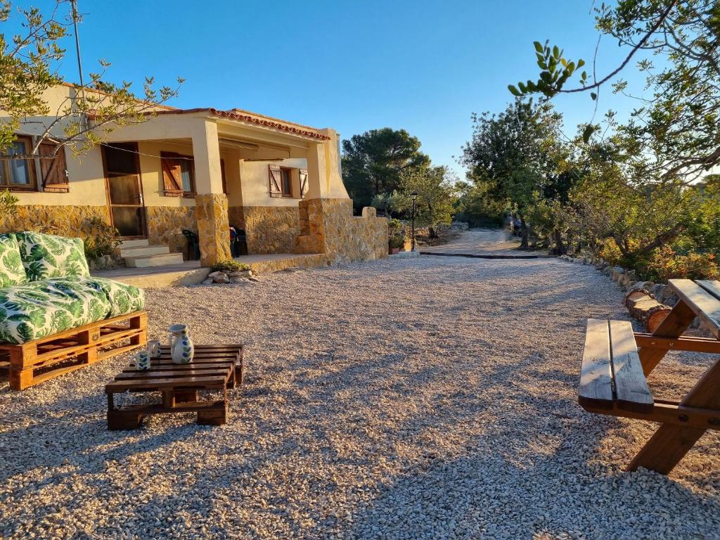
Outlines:
[{"label": "stone-clad lower wall behind the sofa, below the leftmost window", "polygon": [[89,220],[100,217],[110,222],[107,206],[57,206],[48,204],[22,204],[17,215],[0,217],[0,233],[17,233],[35,230],[60,236],[87,235]]}]

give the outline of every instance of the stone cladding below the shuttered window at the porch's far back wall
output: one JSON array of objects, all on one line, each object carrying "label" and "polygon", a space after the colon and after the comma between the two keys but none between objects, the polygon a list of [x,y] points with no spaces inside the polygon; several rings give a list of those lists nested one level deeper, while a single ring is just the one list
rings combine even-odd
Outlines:
[{"label": "stone cladding below the shuttered window at the porch's far back wall", "polygon": [[248,253],[295,253],[300,214],[294,206],[243,207]]}]

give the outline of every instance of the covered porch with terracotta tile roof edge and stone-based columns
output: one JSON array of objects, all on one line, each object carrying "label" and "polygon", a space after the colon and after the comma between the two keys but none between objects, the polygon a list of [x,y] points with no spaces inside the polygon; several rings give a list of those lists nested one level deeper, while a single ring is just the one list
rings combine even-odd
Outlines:
[{"label": "covered porch with terracotta tile roof edge and stone-based columns", "polygon": [[350,202],[333,130],[238,110],[158,112],[112,132],[102,152],[113,225],[186,259],[192,231],[200,266],[230,258],[230,226],[245,230],[250,255],[323,253],[307,204]]}]

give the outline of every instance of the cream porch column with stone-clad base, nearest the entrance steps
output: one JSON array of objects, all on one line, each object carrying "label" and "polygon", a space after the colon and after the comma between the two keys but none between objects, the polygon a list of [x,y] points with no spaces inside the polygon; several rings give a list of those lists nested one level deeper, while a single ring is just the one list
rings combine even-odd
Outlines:
[{"label": "cream porch column with stone-clad base, nearest the entrance steps", "polygon": [[195,215],[200,238],[200,264],[212,266],[230,256],[228,197],[222,193],[217,125],[199,120],[192,129],[195,162]]}]

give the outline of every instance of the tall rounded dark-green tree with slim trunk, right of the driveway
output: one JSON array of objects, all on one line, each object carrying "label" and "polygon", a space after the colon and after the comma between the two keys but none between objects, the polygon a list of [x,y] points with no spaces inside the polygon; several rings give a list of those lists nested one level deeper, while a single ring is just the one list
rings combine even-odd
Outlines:
[{"label": "tall rounded dark-green tree with slim trunk, right of the driveway", "polygon": [[547,197],[567,193],[559,170],[567,150],[559,140],[562,115],[549,104],[516,99],[505,112],[473,117],[472,140],[462,163],[485,197],[516,213],[521,220],[522,248],[528,247],[527,215]]}]

